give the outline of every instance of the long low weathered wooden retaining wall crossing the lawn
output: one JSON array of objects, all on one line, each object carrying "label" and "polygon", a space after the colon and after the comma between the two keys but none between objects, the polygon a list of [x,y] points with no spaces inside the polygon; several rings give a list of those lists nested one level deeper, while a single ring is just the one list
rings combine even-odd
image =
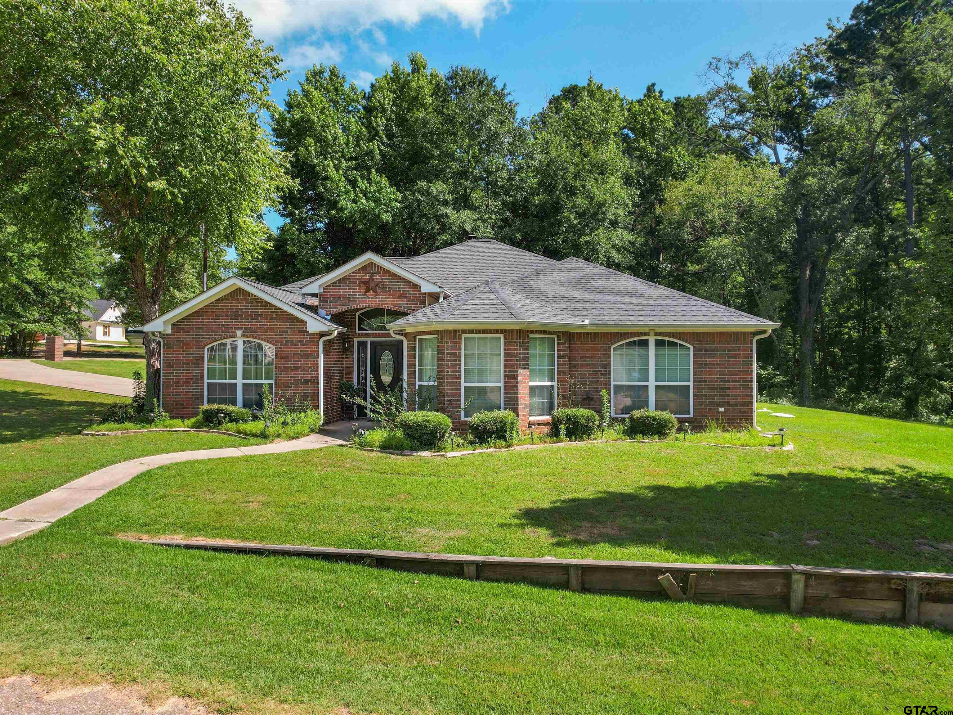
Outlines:
[{"label": "long low weathered wooden retaining wall crossing the lawn", "polygon": [[[797,564],[766,566],[519,559],[170,539],[143,542],[240,554],[303,556],[479,581],[536,583],[588,593],[679,600],[688,600],[690,596],[692,601],[704,603],[732,603],[862,621],[894,621],[953,628],[953,574]],[[662,579],[665,574],[670,575],[674,583]],[[666,583],[669,590],[665,588]]]}]

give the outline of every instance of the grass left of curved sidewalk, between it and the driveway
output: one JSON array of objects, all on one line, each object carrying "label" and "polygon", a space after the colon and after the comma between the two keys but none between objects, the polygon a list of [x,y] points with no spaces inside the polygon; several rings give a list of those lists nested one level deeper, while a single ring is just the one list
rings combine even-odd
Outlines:
[{"label": "grass left of curved sidewalk, between it and the driveway", "polygon": [[258,443],[220,435],[82,437],[113,395],[0,379],[0,511],[137,457]]}]

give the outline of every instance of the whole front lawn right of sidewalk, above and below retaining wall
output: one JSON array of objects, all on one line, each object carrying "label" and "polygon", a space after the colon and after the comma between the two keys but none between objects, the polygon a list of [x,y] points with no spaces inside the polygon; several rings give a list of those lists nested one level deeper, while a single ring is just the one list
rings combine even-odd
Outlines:
[{"label": "whole front lawn right of sidewalk, above and below retaining wall", "polygon": [[0,549],[0,676],[108,678],[256,712],[953,708],[946,632],[115,539],[953,570],[915,542],[953,541],[953,432],[784,411],[794,453],[326,448],[153,470]]}]

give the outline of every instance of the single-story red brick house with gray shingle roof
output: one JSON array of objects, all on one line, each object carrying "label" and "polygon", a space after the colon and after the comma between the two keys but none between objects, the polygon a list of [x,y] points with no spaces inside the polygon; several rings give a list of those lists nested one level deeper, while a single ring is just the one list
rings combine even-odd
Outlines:
[{"label": "single-story red brick house with gray shingle roof", "polygon": [[[561,261],[468,239],[430,254],[366,253],[276,288],[231,277],[158,317],[162,401],[260,404],[263,384],[344,419],[342,380],[404,380],[457,429],[503,408],[546,423],[570,401],[668,410],[682,421],[755,419],[760,317],[579,258]],[[466,407],[465,411],[463,407]]]}]

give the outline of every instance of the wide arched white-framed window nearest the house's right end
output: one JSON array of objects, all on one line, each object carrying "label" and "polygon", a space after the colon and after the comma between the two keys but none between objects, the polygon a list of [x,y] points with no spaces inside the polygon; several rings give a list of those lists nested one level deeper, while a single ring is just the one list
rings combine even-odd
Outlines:
[{"label": "wide arched white-framed window nearest the house's right end", "polygon": [[692,346],[670,337],[636,337],[612,346],[612,414],[665,410],[691,417]]}]

